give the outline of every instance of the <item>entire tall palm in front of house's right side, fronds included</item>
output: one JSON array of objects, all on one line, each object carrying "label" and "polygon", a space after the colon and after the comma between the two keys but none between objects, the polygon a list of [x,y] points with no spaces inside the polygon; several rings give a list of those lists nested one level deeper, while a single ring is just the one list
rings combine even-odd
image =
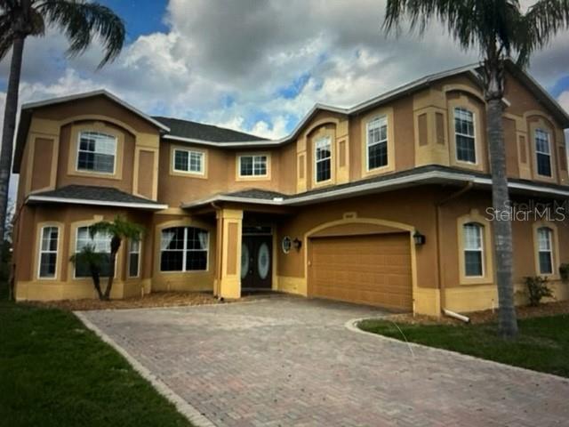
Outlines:
[{"label": "entire tall palm in front of house's right side, fronds included", "polygon": [[[432,19],[443,21],[463,50],[475,48],[482,58],[482,85],[486,101],[486,133],[492,168],[495,210],[509,207],[502,99],[505,65],[511,55],[525,67],[531,54],[545,47],[552,36],[569,27],[569,1],[540,0],[525,13],[518,0],[388,0],[383,28],[398,29],[402,20],[420,33]],[[499,328],[504,337],[517,334],[512,282],[512,229],[508,221],[494,222],[496,281],[500,304]]]}]

